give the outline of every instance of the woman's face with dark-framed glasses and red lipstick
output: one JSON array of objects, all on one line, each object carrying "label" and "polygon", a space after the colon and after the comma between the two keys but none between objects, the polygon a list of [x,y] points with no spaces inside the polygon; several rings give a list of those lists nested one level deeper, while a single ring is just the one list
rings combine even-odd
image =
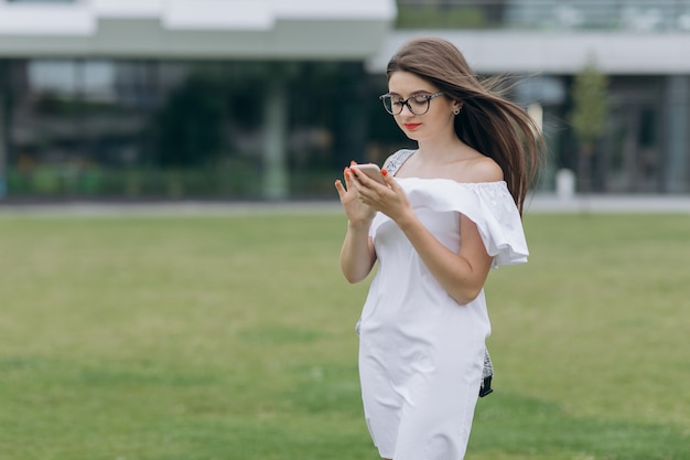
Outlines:
[{"label": "woman's face with dark-framed glasses and red lipstick", "polygon": [[[412,140],[423,141],[427,139],[439,139],[446,136],[454,136],[453,110],[460,107],[460,103],[451,100],[444,95],[433,97],[429,100],[429,110],[421,114],[427,108],[424,96],[432,96],[439,93],[439,88],[419,76],[409,72],[393,72],[388,78],[388,93],[392,96],[393,110],[402,108],[400,114],[395,115],[396,122]],[[411,97],[421,96],[421,97]],[[408,99],[407,104],[401,104]],[[414,113],[413,113],[414,111]]]}]

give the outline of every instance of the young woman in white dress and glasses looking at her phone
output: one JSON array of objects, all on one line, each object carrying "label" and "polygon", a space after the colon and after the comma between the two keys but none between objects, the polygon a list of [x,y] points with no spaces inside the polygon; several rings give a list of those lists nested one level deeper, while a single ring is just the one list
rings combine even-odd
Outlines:
[{"label": "young woman in white dress and glasses looking at her phone", "polygon": [[354,164],[335,183],[345,278],[378,260],[359,327],[365,416],[384,459],[461,460],[490,332],[484,284],[527,260],[521,211],[542,140],[444,40],[407,43],[387,75],[384,107],[418,149],[389,157],[382,183]]}]

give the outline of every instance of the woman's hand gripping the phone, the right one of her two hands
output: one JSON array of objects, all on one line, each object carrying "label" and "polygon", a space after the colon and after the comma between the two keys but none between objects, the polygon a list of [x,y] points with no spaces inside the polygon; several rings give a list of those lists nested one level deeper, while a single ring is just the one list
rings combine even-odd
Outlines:
[{"label": "woman's hand gripping the phone, the right one of her two hands", "polygon": [[355,176],[355,186],[359,193],[359,200],[375,211],[386,214],[396,223],[413,213],[410,201],[405,190],[388,174],[381,170],[384,183],[379,183],[365,173],[351,168]]}]

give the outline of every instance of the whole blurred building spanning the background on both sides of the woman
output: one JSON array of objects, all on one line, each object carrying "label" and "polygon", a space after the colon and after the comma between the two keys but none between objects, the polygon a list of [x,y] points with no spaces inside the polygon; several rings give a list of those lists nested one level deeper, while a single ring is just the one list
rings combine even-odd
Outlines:
[{"label": "whole blurred building spanning the background on both sides of the woman", "polygon": [[441,35],[582,163],[573,76],[608,76],[589,189],[690,192],[690,0],[0,0],[0,196],[332,196],[406,143],[388,57]]}]

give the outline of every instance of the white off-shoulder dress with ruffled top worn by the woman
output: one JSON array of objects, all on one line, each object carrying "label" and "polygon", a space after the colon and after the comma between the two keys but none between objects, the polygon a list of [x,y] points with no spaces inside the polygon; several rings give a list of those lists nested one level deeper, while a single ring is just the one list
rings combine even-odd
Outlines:
[{"label": "white off-shoulder dress with ruffled top worn by the woman", "polygon": [[[396,180],[449,249],[460,250],[463,214],[477,225],[493,267],[527,261],[505,182]],[[484,291],[466,306],[455,302],[386,215],[376,215],[369,234],[379,267],[359,323],[359,375],[374,443],[387,459],[461,460],[490,333]]]}]

